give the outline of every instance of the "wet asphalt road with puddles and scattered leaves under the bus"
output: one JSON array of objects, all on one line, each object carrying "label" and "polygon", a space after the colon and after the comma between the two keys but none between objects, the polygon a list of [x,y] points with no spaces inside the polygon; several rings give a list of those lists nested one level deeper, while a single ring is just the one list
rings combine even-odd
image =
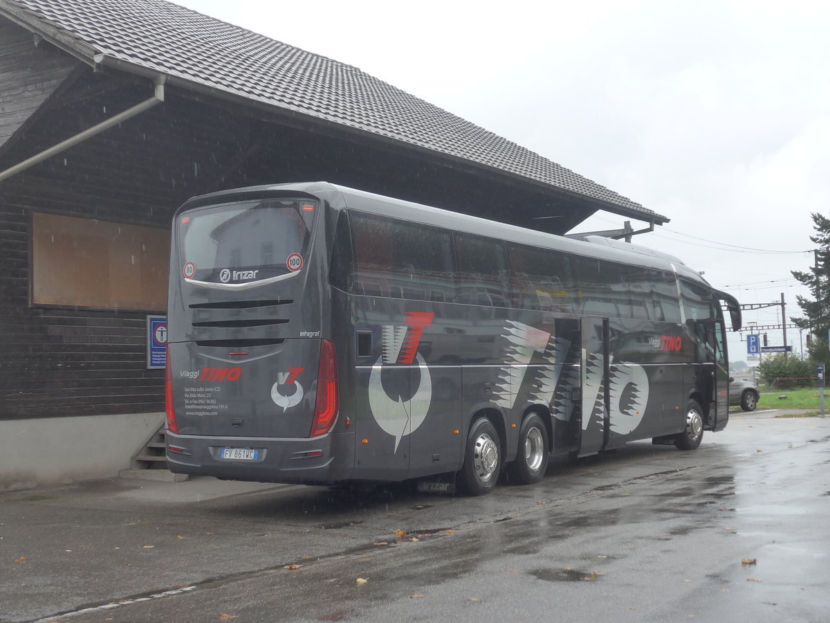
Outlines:
[{"label": "wet asphalt road with puddles and scattered leaves under the bus", "polygon": [[828,469],[830,419],[759,412],[483,498],[2,493],[0,621],[830,621]]}]

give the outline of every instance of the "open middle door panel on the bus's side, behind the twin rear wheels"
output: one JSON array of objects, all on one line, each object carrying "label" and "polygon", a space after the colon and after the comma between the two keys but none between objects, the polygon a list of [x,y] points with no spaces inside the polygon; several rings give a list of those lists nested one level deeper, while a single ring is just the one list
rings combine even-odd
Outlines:
[{"label": "open middle door panel on the bus's side, behind the twin rear wheels", "polygon": [[608,444],[608,318],[583,317],[580,321],[582,350],[579,375],[582,436],[579,456],[601,452]]}]

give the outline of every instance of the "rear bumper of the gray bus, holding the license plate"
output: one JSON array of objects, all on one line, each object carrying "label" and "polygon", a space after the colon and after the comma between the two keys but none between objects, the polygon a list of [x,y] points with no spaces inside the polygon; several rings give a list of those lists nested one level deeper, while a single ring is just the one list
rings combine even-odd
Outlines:
[{"label": "rear bumper of the gray bus, holding the license plate", "polygon": [[[167,431],[173,473],[260,483],[327,484],[348,479],[354,468],[354,433],[314,439],[208,437]],[[229,455],[233,458],[225,458]]]}]

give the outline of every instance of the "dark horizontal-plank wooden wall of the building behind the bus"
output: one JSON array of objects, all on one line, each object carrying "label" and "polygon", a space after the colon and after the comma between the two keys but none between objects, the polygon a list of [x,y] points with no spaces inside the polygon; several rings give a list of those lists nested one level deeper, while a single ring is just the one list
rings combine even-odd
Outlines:
[{"label": "dark horizontal-plank wooden wall of the building behind the bus", "polygon": [[[0,170],[153,93],[147,80],[78,69],[45,45],[21,39],[15,48],[15,66],[26,66],[28,53],[44,91],[37,113],[3,145]],[[0,56],[0,82],[18,71],[2,70],[8,62]],[[17,96],[16,105],[24,100]],[[164,410],[164,373],[145,369],[145,316],[164,310],[32,306],[32,211],[168,230],[174,209],[194,194],[310,180],[505,221],[515,220],[516,205],[546,209],[550,200],[372,135],[268,118],[168,88],[164,104],[0,182],[0,419]]]}]

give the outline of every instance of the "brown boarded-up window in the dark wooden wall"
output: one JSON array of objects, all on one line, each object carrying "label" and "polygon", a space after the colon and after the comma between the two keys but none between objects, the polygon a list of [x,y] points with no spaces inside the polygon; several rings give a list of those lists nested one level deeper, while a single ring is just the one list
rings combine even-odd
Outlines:
[{"label": "brown boarded-up window in the dark wooden wall", "polygon": [[32,214],[32,303],[164,310],[166,229]]}]

